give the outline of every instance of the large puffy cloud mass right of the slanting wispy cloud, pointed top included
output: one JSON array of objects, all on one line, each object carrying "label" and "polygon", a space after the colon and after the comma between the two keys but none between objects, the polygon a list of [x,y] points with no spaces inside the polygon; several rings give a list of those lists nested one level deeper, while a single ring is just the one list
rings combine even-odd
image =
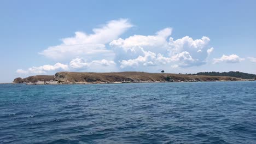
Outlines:
[{"label": "large puffy cloud mass right of the slanting wispy cloud, pointed top included", "polygon": [[172,28],[165,28],[155,35],[119,38],[109,45],[115,52],[115,61],[120,62],[120,68],[155,66],[173,62],[177,62],[179,67],[190,67],[206,62],[206,57],[213,51],[213,47],[207,49],[210,38],[193,40],[186,36],[174,40],[170,37],[171,32]]}]

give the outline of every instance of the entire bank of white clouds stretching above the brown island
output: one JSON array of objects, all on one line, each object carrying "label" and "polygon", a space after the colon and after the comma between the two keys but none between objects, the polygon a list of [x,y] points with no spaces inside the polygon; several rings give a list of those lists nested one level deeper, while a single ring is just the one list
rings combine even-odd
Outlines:
[{"label": "entire bank of white clouds stretching above the brown island", "polygon": [[[174,39],[172,28],[160,29],[152,35],[131,35],[120,38],[133,27],[127,19],[108,21],[101,27],[92,29],[91,34],[75,32],[73,37],[61,39],[62,43],[39,52],[58,63],[18,69],[19,74],[45,74],[57,70],[81,71],[124,71],[143,70],[153,67],[161,69],[200,66],[207,62],[213,52],[210,38],[189,36]],[[243,58],[237,55],[215,58],[214,63],[235,63]],[[66,63],[66,64],[63,64]]]}]

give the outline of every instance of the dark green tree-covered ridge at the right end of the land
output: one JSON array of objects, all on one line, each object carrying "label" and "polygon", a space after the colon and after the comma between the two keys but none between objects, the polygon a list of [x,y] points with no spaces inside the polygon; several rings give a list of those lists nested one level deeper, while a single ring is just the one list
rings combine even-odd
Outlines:
[{"label": "dark green tree-covered ridge at the right end of the land", "polygon": [[238,77],[241,79],[255,79],[256,75],[254,74],[247,74],[247,73],[242,73],[240,71],[229,71],[229,72],[223,72],[223,73],[219,73],[219,72],[200,72],[197,74],[193,74],[193,75],[211,75],[211,76],[231,76],[231,77]]}]

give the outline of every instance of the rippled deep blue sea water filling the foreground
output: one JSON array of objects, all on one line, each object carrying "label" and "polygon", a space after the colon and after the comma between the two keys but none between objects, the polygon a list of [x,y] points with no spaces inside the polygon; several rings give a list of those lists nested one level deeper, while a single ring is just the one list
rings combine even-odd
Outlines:
[{"label": "rippled deep blue sea water filling the foreground", "polygon": [[256,82],[0,85],[0,143],[256,143]]}]

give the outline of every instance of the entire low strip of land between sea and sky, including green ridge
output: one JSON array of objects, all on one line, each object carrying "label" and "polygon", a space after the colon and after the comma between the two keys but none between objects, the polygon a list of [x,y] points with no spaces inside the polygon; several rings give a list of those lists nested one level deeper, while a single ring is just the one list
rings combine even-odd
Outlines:
[{"label": "entire low strip of land between sea and sky, including green ridge", "polygon": [[[237,72],[235,72],[237,73]],[[239,72],[240,73],[240,72]],[[214,75],[216,74],[216,75]],[[223,75],[221,75],[223,74]],[[126,71],[117,73],[80,73],[59,72],[55,75],[36,75],[24,79],[18,77],[14,83],[26,83],[28,85],[57,85],[57,84],[89,84],[89,83],[140,83],[140,82],[197,82],[197,81],[248,81],[255,80],[252,74],[241,75],[226,73],[205,72],[197,74],[168,74],[168,73],[144,73]],[[236,77],[235,77],[236,76]],[[256,77],[256,76],[255,76]],[[245,79],[246,78],[246,79]]]}]

